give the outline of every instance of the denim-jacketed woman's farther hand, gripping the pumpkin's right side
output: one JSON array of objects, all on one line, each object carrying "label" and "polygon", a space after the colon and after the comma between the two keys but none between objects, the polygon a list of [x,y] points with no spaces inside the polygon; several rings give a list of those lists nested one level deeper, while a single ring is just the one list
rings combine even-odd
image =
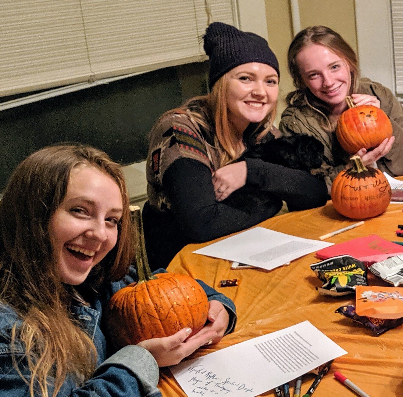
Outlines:
[{"label": "denim-jacketed woman's farther hand, gripping the pumpkin's right side", "polygon": [[[218,343],[224,336],[225,331],[229,324],[229,314],[226,311],[224,305],[219,301],[210,301],[208,309],[208,322],[207,324],[196,334],[191,336],[188,341],[193,338],[201,338],[202,335],[211,335],[206,345],[212,343]],[[214,332],[211,334],[211,332]]]}]

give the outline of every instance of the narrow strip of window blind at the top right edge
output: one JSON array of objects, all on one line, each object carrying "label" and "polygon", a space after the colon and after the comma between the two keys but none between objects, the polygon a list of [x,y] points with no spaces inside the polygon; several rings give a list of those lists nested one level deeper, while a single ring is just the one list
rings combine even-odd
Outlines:
[{"label": "narrow strip of window blind at the top right edge", "polygon": [[403,94],[403,0],[391,0],[396,93]]}]

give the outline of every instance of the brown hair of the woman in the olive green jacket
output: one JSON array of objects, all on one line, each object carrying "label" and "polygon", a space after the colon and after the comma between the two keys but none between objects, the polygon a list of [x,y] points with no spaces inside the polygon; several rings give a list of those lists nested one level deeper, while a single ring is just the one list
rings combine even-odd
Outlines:
[{"label": "brown hair of the woman in the olive green jacket", "polygon": [[295,88],[297,90],[305,89],[296,58],[298,53],[310,44],[320,44],[327,47],[349,65],[351,71],[350,94],[355,92],[359,78],[357,55],[339,33],[330,29],[330,27],[322,25],[310,26],[301,30],[289,46],[287,56],[288,70],[293,78]]}]

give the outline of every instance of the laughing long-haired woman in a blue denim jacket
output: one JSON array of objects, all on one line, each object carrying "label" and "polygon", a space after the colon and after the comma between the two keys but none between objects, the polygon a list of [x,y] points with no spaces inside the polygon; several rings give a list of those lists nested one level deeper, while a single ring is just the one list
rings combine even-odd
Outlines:
[{"label": "laughing long-haired woman in a blue denim jacket", "polygon": [[112,351],[102,312],[137,280],[132,229],[122,171],[101,150],[51,146],[15,169],[0,201],[2,397],[157,397],[159,366],[233,330],[231,300],[199,282],[201,331]]}]

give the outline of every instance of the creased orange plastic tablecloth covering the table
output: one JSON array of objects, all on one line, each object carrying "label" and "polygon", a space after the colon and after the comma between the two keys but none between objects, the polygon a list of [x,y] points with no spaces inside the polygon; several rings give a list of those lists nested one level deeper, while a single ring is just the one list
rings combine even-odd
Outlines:
[{"label": "creased orange plastic tablecloth covering the table", "polygon": [[[369,234],[377,234],[386,240],[397,240],[395,230],[397,224],[403,223],[402,209],[403,204],[391,204],[384,214],[368,219],[364,225],[326,241],[337,243]],[[329,201],[324,207],[286,213],[270,218],[259,226],[318,239],[323,234],[354,222],[339,215]],[[192,253],[210,243],[187,245],[174,257],[168,271],[199,278],[231,298],[237,307],[238,322],[235,332],[226,335],[217,345],[199,349],[189,358],[309,320],[348,352],[334,360],[329,374],[319,384],[314,396],[355,395],[333,377],[334,371],[340,371],[372,397],[403,396],[403,326],[377,337],[367,328],[334,313],[338,307],[353,303],[355,298],[353,295],[326,297],[318,294],[315,286],[322,285],[322,282],[309,267],[311,263],[318,261],[314,253],[291,262],[289,266],[271,271],[231,270],[229,261]],[[239,286],[218,286],[220,280],[231,278],[237,278]],[[371,274],[369,280],[372,285],[388,285]],[[308,390],[313,379],[313,375],[305,376],[301,395]],[[293,391],[294,382],[290,385]],[[164,396],[185,396],[166,368],[161,370],[158,387]],[[274,396],[275,393],[268,391],[263,395]]]}]

